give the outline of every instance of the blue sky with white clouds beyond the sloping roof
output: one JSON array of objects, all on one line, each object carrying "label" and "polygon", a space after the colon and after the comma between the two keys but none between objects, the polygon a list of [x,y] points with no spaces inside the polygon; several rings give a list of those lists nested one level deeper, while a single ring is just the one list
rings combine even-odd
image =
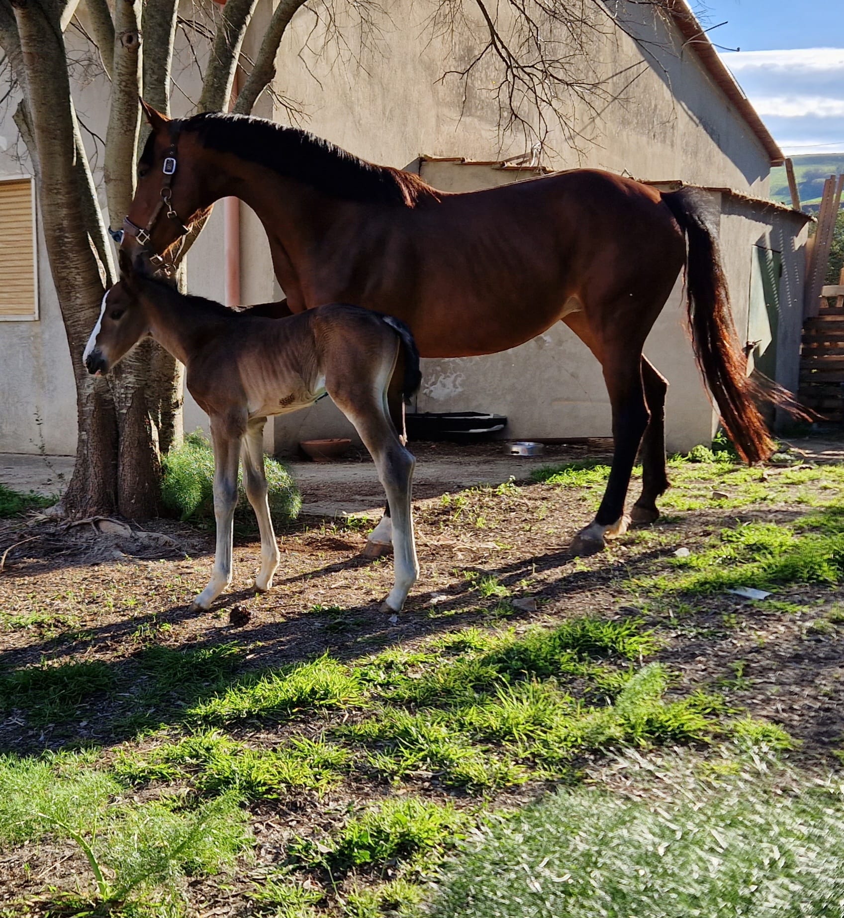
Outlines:
[{"label": "blue sky with white clouds beyond the sloping roof", "polygon": [[842,0],[706,0],[694,11],[786,155],[844,152]]}]

